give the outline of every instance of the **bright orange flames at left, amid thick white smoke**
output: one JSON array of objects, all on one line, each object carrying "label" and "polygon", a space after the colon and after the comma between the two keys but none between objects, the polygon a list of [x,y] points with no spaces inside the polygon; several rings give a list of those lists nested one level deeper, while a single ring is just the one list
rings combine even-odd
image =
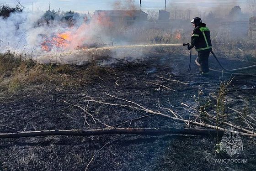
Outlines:
[{"label": "bright orange flames at left, amid thick white smoke", "polygon": [[54,36],[51,37],[45,37],[45,41],[41,44],[42,50],[43,51],[51,51],[54,47],[67,47],[69,45],[69,41],[71,40],[70,38],[70,33],[58,33]]}]

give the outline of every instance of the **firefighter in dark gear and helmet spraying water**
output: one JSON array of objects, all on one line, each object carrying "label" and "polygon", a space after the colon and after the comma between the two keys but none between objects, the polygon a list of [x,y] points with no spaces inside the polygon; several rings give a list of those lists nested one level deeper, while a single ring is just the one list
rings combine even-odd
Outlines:
[{"label": "firefighter in dark gear and helmet spraying water", "polygon": [[194,30],[191,36],[191,43],[188,44],[187,49],[191,50],[196,47],[198,53],[197,62],[200,64],[199,73],[207,77],[209,73],[208,58],[212,51],[210,30],[206,27],[206,24],[202,23],[199,17],[193,18],[191,23],[193,23]]}]

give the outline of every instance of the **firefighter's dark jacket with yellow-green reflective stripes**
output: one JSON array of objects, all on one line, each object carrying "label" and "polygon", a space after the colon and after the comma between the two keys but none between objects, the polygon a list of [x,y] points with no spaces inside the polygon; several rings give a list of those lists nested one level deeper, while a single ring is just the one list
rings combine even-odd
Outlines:
[{"label": "firefighter's dark jacket with yellow-green reflective stripes", "polygon": [[212,42],[210,30],[204,23],[200,23],[193,30],[190,47],[196,47],[196,51],[211,51]]}]

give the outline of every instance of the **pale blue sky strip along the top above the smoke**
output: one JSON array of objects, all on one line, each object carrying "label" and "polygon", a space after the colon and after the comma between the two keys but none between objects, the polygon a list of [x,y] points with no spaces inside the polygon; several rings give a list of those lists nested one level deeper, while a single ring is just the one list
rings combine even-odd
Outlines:
[{"label": "pale blue sky strip along the top above the smoke", "polygon": [[[6,3],[15,5],[17,0],[0,0],[0,4]],[[73,10],[79,12],[94,10],[113,10],[114,3],[117,0],[19,0],[28,10],[47,10],[50,2],[51,9],[54,10]],[[119,0],[124,2],[126,0]],[[134,0],[135,5],[139,8],[139,0]],[[171,5],[184,5],[186,8],[207,10],[208,8],[225,6],[225,5],[240,5],[242,10],[246,10],[246,0],[166,0],[167,7]],[[142,0],[142,10],[162,10],[164,9],[164,0]]]}]

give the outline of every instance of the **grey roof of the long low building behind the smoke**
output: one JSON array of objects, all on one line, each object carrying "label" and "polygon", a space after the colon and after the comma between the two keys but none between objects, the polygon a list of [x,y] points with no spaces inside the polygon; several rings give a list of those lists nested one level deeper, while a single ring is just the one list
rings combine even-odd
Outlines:
[{"label": "grey roof of the long low building behind the smoke", "polygon": [[142,10],[96,10],[94,14],[104,14],[107,16],[139,16],[148,15]]}]

